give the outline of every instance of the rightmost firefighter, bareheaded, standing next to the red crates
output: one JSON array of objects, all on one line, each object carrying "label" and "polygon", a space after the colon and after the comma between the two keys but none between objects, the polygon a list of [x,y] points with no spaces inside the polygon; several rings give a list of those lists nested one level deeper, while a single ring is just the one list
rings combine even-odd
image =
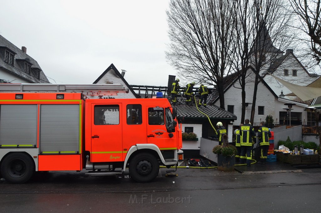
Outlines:
[{"label": "rightmost firefighter, bareheaded, standing next to the red crates", "polygon": [[259,138],[260,142],[260,161],[258,163],[265,164],[266,158],[267,158],[267,152],[269,150],[269,138],[272,136],[269,128],[265,126],[265,122],[262,121],[259,130],[257,131],[257,137]]}]

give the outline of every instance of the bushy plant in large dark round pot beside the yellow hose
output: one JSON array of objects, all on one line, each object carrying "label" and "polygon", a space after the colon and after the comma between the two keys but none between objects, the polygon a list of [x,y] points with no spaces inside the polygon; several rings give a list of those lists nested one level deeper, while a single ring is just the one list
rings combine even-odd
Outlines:
[{"label": "bushy plant in large dark round pot beside the yellow hose", "polygon": [[217,145],[213,148],[213,153],[217,154],[217,169],[220,171],[234,171],[235,154],[237,149],[229,145],[227,135],[223,135],[223,145]]}]

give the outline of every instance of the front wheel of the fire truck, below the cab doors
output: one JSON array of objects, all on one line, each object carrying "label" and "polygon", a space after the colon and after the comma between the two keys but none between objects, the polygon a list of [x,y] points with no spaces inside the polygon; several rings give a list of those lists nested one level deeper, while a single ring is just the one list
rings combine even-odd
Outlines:
[{"label": "front wheel of the fire truck, below the cab doors", "polygon": [[160,170],[156,157],[150,153],[135,155],[129,162],[129,174],[137,182],[144,183],[154,180]]}]

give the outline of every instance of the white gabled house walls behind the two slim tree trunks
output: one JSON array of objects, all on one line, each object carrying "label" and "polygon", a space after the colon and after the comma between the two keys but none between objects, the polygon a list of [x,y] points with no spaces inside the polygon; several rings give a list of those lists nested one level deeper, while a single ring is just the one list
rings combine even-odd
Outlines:
[{"label": "white gabled house walls behind the two slim tree trunks", "polygon": [[[246,111],[245,118],[249,118],[251,115],[252,99],[253,99],[253,88],[254,88],[254,78],[255,74],[252,69],[248,69],[249,75],[247,77],[246,83]],[[227,77],[228,78],[228,77]],[[234,121],[234,125],[240,124],[241,113],[242,113],[242,96],[241,89],[238,81],[239,77],[234,78],[232,83],[230,83],[227,88],[224,90],[225,98],[225,108],[237,116],[237,120]],[[290,112],[286,109],[288,106],[284,104],[295,104],[291,109],[291,124],[301,124],[305,117],[307,117],[307,112],[304,111],[305,107],[308,107],[307,104],[302,104],[293,100],[280,98],[274,91],[269,87],[269,85],[260,78],[261,81],[258,84],[257,94],[256,94],[256,109],[254,116],[254,123],[265,121],[266,116],[272,115],[274,122],[285,122],[289,124]],[[213,104],[220,106],[220,100],[218,97],[215,97]]]}]

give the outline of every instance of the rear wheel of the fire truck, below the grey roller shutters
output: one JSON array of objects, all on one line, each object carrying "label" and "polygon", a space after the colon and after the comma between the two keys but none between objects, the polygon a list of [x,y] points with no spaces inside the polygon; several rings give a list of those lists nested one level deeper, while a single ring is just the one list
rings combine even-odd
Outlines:
[{"label": "rear wheel of the fire truck, below the grey roller shutters", "polygon": [[24,183],[31,178],[35,164],[26,153],[12,153],[4,158],[0,169],[6,181]]}]

